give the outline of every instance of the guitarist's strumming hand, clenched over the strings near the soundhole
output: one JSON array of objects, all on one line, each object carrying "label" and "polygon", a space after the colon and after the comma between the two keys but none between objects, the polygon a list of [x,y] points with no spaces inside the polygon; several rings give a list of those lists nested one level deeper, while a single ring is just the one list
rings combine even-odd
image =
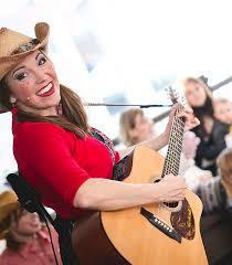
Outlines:
[{"label": "guitarist's strumming hand, clenched over the strings near the soundhole", "polygon": [[183,177],[167,174],[155,186],[158,188],[158,201],[175,202],[184,199],[187,183]]}]

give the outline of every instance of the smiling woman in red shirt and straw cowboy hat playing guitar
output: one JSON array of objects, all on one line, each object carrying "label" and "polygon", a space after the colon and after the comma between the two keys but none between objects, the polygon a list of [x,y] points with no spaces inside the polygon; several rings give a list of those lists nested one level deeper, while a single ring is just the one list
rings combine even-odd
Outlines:
[{"label": "smiling woman in red shirt and straw cowboy hat playing guitar", "polygon": [[[35,35],[32,40],[8,29],[0,31],[0,102],[13,114],[19,171],[43,203],[66,223],[86,210],[113,211],[182,200],[186,183],[181,177],[167,176],[157,186],[110,180],[114,165],[133,147],[115,152],[108,138],[88,126],[80,97],[59,84],[44,53],[49,25],[38,23]],[[143,145],[158,150],[167,144],[173,113],[175,108],[165,132]],[[186,117],[187,127],[199,124],[191,109],[180,116]],[[68,243],[61,242],[64,264],[73,264],[73,257],[64,256]]]}]

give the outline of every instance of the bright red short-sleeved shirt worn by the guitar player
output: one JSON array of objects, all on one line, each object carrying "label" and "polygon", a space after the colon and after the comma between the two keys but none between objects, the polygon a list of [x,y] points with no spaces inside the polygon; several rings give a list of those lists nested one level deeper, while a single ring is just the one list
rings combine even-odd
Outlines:
[{"label": "bright red short-sleeved shirt worn by the guitar player", "polygon": [[87,179],[109,179],[113,173],[114,161],[102,141],[81,139],[54,124],[13,121],[13,152],[23,178],[63,219],[80,213],[73,200]]}]

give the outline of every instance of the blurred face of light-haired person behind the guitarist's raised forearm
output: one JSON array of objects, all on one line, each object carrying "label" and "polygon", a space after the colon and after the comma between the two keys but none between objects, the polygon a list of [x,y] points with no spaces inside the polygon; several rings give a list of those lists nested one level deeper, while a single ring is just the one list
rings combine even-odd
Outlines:
[{"label": "blurred face of light-haired person behind the guitarist's raised forearm", "polygon": [[154,123],[148,117],[138,114],[135,118],[135,128],[131,129],[131,137],[141,142],[152,136]]}]

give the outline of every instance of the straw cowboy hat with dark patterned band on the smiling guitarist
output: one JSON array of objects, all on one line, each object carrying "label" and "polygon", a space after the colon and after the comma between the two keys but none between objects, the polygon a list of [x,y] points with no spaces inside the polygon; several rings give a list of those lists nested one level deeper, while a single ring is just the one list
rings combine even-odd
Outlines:
[{"label": "straw cowboy hat with dark patterned band on the smiling guitarist", "polygon": [[[42,49],[46,52],[49,30],[50,26],[48,23],[36,23],[34,26],[36,39],[32,39],[7,28],[0,29],[0,81],[11,68],[13,68],[31,52],[38,49]],[[0,105],[0,112],[7,110],[8,109]]]}]

